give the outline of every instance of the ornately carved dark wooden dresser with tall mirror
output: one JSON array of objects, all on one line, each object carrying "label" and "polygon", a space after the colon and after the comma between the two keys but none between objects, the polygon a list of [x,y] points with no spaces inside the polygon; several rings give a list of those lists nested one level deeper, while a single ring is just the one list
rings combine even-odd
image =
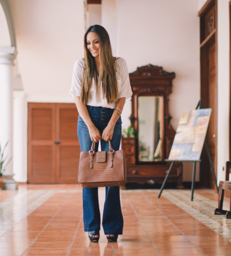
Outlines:
[{"label": "ornately carved dark wooden dresser with tall mirror", "polygon": [[[170,125],[168,97],[175,73],[148,64],[129,74],[132,96],[132,127],[136,138],[122,137],[127,163],[127,181],[161,184],[169,169],[168,158],[175,131]],[[151,122],[150,122],[151,120]],[[182,187],[182,164],[173,167],[169,182]]]}]

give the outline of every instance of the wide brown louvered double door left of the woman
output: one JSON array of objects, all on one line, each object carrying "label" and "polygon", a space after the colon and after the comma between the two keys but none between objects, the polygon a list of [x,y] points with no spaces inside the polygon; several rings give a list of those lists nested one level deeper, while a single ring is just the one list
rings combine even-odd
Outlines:
[{"label": "wide brown louvered double door left of the woman", "polygon": [[28,103],[28,182],[76,183],[80,146],[75,104]]}]

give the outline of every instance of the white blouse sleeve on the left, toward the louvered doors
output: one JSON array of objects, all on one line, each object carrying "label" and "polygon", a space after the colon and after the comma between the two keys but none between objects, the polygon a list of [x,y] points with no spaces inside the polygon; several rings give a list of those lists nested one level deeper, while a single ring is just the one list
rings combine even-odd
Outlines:
[{"label": "white blouse sleeve on the left, toward the louvered doors", "polygon": [[76,61],[73,68],[72,85],[69,93],[72,99],[75,99],[75,96],[80,96],[83,75],[84,75],[84,60],[80,59]]}]

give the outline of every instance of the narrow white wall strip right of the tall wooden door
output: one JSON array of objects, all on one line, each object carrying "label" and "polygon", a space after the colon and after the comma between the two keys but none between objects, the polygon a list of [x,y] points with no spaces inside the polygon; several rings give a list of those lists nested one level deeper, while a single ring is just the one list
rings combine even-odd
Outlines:
[{"label": "narrow white wall strip right of the tall wooden door", "polygon": [[[225,179],[225,162],[229,159],[229,115],[230,115],[230,20],[229,0],[217,1],[217,179]],[[225,169],[225,168],[224,168]]]}]

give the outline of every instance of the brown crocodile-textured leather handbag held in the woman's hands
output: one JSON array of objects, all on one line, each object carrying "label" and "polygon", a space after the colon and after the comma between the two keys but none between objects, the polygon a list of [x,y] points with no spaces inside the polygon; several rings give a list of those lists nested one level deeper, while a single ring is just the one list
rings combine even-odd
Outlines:
[{"label": "brown crocodile-textured leather handbag held in the woman's hands", "polygon": [[123,150],[114,150],[109,140],[109,152],[95,152],[92,142],[89,152],[80,153],[78,182],[84,188],[113,187],[124,185],[127,169]]}]

